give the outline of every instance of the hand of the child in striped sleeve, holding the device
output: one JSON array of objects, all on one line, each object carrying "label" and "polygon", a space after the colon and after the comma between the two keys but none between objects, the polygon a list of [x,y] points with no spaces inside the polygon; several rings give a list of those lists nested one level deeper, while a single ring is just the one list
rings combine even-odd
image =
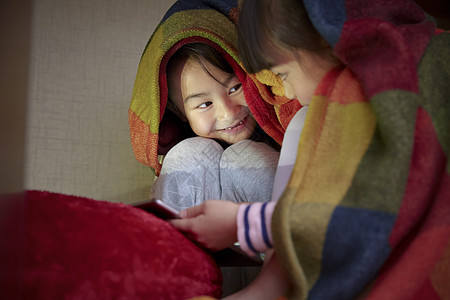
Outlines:
[{"label": "hand of the child in striped sleeve, holding the device", "polygon": [[180,212],[181,219],[170,223],[200,245],[222,250],[237,241],[238,204],[226,200],[208,200]]}]

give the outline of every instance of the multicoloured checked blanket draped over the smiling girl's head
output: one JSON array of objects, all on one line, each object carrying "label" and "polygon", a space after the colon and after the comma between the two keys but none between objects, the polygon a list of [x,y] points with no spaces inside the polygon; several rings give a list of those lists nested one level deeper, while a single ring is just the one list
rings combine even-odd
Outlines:
[{"label": "multicoloured checked blanket draped over the smiling girl's head", "polygon": [[[297,101],[275,96],[256,76],[243,71],[237,54],[236,22],[235,0],[179,0],[167,11],[150,37],[136,75],[129,125],[136,158],[152,167],[157,175],[161,169],[158,154],[167,153],[173,145],[192,134],[187,123],[166,110],[167,62],[187,43],[205,43],[224,55],[243,84],[247,104],[256,121],[281,143],[286,120],[299,105]],[[262,97],[266,101],[262,101]],[[282,105],[284,103],[287,104]]]}]

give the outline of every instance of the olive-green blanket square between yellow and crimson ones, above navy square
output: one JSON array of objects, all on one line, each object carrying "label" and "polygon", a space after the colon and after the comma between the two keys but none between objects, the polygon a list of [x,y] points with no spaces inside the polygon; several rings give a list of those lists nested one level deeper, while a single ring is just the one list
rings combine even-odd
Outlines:
[{"label": "olive-green blanket square between yellow and crimson ones, above navy square", "polygon": [[371,103],[377,127],[341,205],[396,214],[408,180],[419,96],[387,91]]}]

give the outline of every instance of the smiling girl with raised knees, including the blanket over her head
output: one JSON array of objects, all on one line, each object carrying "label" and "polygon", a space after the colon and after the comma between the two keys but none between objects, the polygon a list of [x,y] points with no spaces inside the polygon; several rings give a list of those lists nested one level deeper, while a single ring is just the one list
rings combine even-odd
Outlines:
[{"label": "smiling girl with raised knees, including the blanket over her head", "polygon": [[157,175],[150,197],[178,210],[208,199],[271,199],[285,129],[268,104],[273,95],[242,68],[237,6],[176,1],[141,57],[129,110],[133,150]]}]

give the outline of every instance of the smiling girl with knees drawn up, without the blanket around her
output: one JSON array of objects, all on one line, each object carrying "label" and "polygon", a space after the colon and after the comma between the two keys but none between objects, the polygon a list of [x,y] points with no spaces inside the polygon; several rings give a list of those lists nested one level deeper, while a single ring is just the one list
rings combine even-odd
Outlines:
[{"label": "smiling girl with knees drawn up, without the blanket around her", "polygon": [[262,131],[231,65],[213,47],[190,43],[167,64],[167,109],[193,135],[165,155],[152,197],[176,209],[208,199],[267,202],[279,145]]}]

